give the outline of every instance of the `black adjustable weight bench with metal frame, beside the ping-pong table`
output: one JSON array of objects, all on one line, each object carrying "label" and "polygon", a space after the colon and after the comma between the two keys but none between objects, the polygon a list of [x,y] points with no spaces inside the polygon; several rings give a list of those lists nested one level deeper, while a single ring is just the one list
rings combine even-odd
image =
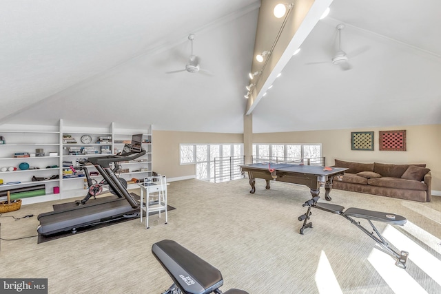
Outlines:
[{"label": "black adjustable weight bench with metal frame, beside the ping-pong table", "polygon": [[[318,196],[308,200],[305,202],[302,206],[308,207],[307,213],[302,214],[302,216],[298,217],[298,220],[303,221],[302,228],[300,229],[300,234],[303,235],[303,231],[307,228],[312,228],[312,222],[307,222],[309,218],[311,218],[311,207],[315,207],[317,209],[321,209],[324,211],[328,211],[331,213],[336,213],[343,218],[346,218],[351,222],[351,224],[355,224],[358,229],[362,230],[364,233],[369,235],[370,238],[372,238],[375,242],[377,242],[383,249],[386,249],[391,255],[397,258],[396,265],[399,266],[402,269],[406,269],[406,261],[407,257],[409,256],[409,253],[407,251],[401,251],[400,253],[396,252],[395,250],[391,249],[389,244],[387,244],[386,240],[384,240],[381,233],[378,231],[378,229],[373,225],[371,222],[377,221],[377,222],[386,222],[387,224],[396,224],[402,226],[407,222],[406,218],[403,216],[399,216],[395,213],[387,213],[387,212],[380,212],[380,211],[371,211],[367,209],[359,209],[359,208],[348,208],[345,211],[345,207],[342,207],[341,205],[336,204],[330,204],[330,203],[323,203],[318,202]],[[371,225],[373,231],[376,233],[376,235],[368,231],[365,227],[363,227],[360,222],[354,220],[353,218],[363,218],[369,222]]]}]

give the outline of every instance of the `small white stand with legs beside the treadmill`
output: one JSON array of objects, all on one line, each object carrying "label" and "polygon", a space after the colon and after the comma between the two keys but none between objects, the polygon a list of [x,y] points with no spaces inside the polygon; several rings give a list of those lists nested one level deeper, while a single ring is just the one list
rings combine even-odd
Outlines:
[{"label": "small white stand with legs beside the treadmill", "polygon": [[[158,211],[161,218],[161,211],[165,213],[165,224],[167,224],[167,179],[165,176],[153,176],[152,182],[145,185],[139,184],[141,189],[140,218],[143,222],[143,211],[145,211],[145,229],[149,229],[149,213]],[[145,194],[145,207],[144,207]],[[153,201],[152,201],[153,200]]]}]

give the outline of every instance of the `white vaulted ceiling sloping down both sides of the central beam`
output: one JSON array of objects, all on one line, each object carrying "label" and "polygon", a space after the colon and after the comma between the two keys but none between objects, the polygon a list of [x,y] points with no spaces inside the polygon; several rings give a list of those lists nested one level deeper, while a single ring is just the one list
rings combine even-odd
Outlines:
[{"label": "white vaulted ceiling sloping down both sides of the central beam", "polygon": [[[0,123],[242,133],[259,5],[1,1]],[[441,123],[440,11],[437,0],[334,0],[254,109],[253,131]],[[331,60],[338,23],[352,69],[307,65]],[[165,74],[185,67],[190,33],[214,76]]]}]

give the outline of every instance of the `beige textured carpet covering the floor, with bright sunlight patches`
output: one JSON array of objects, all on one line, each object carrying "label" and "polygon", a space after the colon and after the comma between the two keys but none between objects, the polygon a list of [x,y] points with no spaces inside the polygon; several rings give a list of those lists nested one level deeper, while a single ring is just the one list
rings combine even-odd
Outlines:
[{"label": "beige textured carpet covering the floor, with bright sunlight patches", "polygon": [[[139,220],[132,220],[43,244],[37,244],[37,238],[2,240],[0,276],[47,277],[49,293],[161,293],[172,280],[152,255],[151,247],[154,242],[171,239],[216,266],[223,274],[223,291],[399,293],[396,283],[411,281],[422,291],[441,293],[438,277],[418,263],[416,253],[409,249],[408,268],[398,269],[390,255],[378,253],[375,242],[341,216],[313,210],[314,228],[300,235],[297,218],[306,212],[302,204],[311,198],[307,187],[271,182],[271,189],[266,190],[265,181],[257,180],[256,193],[249,193],[249,189],[247,179],[222,184],[171,182],[168,204],[176,210],[169,212],[168,224],[151,218],[153,225],[146,230]],[[400,235],[429,254],[424,255],[427,262],[440,263],[440,197],[420,203],[336,189],[331,197],[332,203],[347,208],[405,216],[409,226],[396,227]],[[36,216],[52,211],[52,204],[61,202],[65,200],[4,213],[16,217],[32,213],[35,217],[0,218],[1,238],[36,235]],[[386,227],[375,224],[380,231]],[[407,250],[404,244],[396,246]],[[372,261],[378,254],[383,263],[379,267],[378,261]],[[384,277],[383,272],[392,277]]]}]

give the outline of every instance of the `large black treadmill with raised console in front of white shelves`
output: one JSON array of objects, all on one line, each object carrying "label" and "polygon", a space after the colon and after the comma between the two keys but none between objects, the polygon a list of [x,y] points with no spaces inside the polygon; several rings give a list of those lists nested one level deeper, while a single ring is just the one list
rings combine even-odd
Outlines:
[{"label": "large black treadmill with raised console in front of white shelves", "polygon": [[41,213],[37,217],[40,221],[37,232],[40,235],[53,235],[63,231],[76,233],[76,229],[82,227],[139,216],[139,211],[136,213],[136,210],[139,210],[139,201],[130,195],[109,164],[111,162],[130,161],[143,156],[145,150],[141,146],[142,134],[136,134],[132,136],[129,151],[123,151],[122,154],[117,155],[88,158],[88,162],[96,167],[117,197],[96,198],[92,202],[81,203],[80,205],[78,202],[74,202],[72,207]]}]

